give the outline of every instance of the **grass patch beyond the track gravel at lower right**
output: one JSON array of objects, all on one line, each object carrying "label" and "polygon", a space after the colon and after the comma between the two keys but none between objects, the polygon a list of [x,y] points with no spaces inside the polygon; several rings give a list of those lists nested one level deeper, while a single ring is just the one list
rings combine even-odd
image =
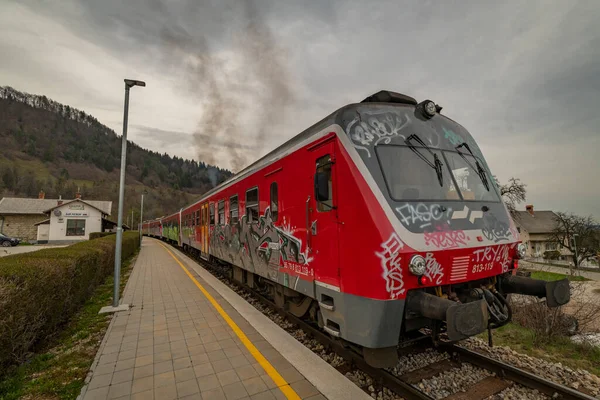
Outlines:
[{"label": "grass patch beyond the track gravel at lower right", "polygon": [[[487,333],[479,335],[487,342]],[[506,346],[532,357],[560,362],[571,368],[582,368],[600,376],[600,348],[573,343],[567,337],[540,342],[533,330],[509,323],[494,330],[494,346]]]}]

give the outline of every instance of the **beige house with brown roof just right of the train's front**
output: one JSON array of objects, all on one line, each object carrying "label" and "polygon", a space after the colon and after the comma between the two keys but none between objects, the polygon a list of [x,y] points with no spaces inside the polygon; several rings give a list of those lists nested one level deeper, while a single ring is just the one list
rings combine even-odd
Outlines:
[{"label": "beige house with brown roof just right of the train's front", "polygon": [[[517,211],[515,225],[522,242],[527,246],[527,257],[543,257],[546,251],[559,251],[561,258],[570,254],[552,241],[556,229],[556,214],[553,211],[534,211],[533,205],[525,206],[526,211]],[[564,254],[563,254],[564,253]]]}]

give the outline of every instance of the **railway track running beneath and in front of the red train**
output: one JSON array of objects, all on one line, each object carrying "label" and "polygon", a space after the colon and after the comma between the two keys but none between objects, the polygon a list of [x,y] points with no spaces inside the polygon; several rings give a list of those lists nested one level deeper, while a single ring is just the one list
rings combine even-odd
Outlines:
[{"label": "railway track running beneath and in front of the red train", "polygon": [[[411,371],[402,372],[400,374],[394,374],[386,369],[374,368],[366,363],[366,361],[362,358],[362,355],[348,348],[341,341],[332,338],[315,326],[286,312],[285,310],[282,310],[281,308],[277,307],[273,301],[266,298],[256,290],[240,285],[238,282],[231,279],[229,274],[224,273],[222,267],[207,262],[199,257],[192,256],[192,258],[194,258],[198,264],[210,271],[218,279],[225,282],[228,286],[237,289],[236,291],[238,291],[238,293],[246,292],[251,294],[251,296],[262,305],[281,315],[281,317],[287,319],[291,324],[296,325],[299,329],[311,336],[325,348],[331,349],[331,351],[343,358],[347,365],[336,367],[338,370],[340,370],[340,372],[344,373],[349,369],[358,369],[370,376],[372,381],[379,387],[387,388],[402,398],[419,400],[494,399],[503,398],[494,396],[499,395],[505,389],[508,389],[514,385],[521,385],[525,388],[535,391],[533,393],[541,393],[545,395],[546,398],[550,399],[595,399],[595,397],[583,392],[560,385],[543,377],[537,376],[531,372],[514,367],[510,364],[447,342],[438,343],[437,346],[437,351],[447,354],[447,357],[442,357],[441,360],[435,361],[431,364],[418,367]],[[470,366],[473,366],[475,368],[488,371],[488,374],[483,379],[479,379],[475,383],[470,384],[466,390],[463,388],[459,391],[450,393],[445,397],[440,397],[439,395],[434,397],[427,393],[423,382],[430,379],[435,379],[440,374],[443,374],[449,370],[461,369],[464,366],[469,366],[469,368],[465,369],[467,372],[472,371]],[[527,396],[519,398],[530,397]],[[544,396],[539,396],[539,398],[544,398]]]}]

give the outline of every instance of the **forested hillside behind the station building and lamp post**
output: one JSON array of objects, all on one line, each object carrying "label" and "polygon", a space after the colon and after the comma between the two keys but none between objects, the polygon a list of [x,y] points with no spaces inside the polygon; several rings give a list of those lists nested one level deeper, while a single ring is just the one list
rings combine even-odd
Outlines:
[{"label": "forested hillside behind the station building and lamp post", "polygon": [[[116,218],[121,138],[96,118],[46,96],[0,87],[0,196],[112,200]],[[231,172],[127,145],[125,211],[157,217],[199,197]],[[137,211],[135,211],[137,213]],[[139,218],[139,215],[138,215]]]}]

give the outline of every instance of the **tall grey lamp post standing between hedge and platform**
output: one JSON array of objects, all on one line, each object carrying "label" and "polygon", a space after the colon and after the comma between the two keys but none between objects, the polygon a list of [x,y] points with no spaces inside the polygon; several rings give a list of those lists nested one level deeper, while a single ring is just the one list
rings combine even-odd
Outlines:
[{"label": "tall grey lamp post standing between hedge and platform", "polygon": [[123,199],[125,197],[125,168],[127,166],[127,117],[129,114],[129,89],[146,86],[145,82],[125,79],[125,108],[123,111],[123,136],[121,137],[121,179],[119,182],[119,212],[117,217],[117,243],[115,246],[115,282],[113,307],[119,306],[119,283],[121,282],[121,247],[123,241]]}]

